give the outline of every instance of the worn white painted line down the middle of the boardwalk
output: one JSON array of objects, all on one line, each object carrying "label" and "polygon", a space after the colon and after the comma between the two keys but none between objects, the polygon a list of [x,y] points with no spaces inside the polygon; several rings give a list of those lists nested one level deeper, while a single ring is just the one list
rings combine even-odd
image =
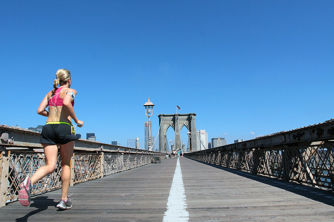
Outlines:
[{"label": "worn white painted line down the middle of the boardwalk", "polygon": [[167,201],[167,211],[165,212],[163,222],[180,221],[187,222],[189,213],[186,210],[186,195],[184,193],[184,185],[182,180],[180,161],[177,159],[174,172],[172,187],[170,188]]}]

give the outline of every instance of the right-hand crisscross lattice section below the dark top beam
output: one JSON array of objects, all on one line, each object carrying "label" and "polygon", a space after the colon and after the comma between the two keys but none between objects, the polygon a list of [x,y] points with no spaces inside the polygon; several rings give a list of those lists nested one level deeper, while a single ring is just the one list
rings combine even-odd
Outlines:
[{"label": "right-hand crisscross lattice section below the dark top beam", "polygon": [[334,143],[185,153],[186,157],[223,167],[303,184],[334,188]]}]

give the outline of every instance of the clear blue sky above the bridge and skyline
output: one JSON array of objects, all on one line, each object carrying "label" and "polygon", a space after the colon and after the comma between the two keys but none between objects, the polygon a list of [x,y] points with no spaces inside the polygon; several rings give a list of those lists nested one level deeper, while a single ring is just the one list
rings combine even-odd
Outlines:
[{"label": "clear blue sky above the bridge and skyline", "polygon": [[[71,71],[85,137],[144,147],[143,104],[196,113],[208,138],[252,139],[334,117],[333,1],[1,1],[0,124],[36,113]],[[181,135],[183,137],[183,135]],[[168,139],[169,140],[169,139]]]}]

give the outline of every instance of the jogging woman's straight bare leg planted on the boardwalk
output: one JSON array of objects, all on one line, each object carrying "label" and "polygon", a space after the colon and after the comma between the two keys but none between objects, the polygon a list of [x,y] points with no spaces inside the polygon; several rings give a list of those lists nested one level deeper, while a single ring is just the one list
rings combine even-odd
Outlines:
[{"label": "jogging woman's straight bare leg planted on the boardwalk", "polygon": [[73,155],[74,141],[60,145],[61,157],[61,199],[67,199],[69,182],[71,179],[71,157]]}]

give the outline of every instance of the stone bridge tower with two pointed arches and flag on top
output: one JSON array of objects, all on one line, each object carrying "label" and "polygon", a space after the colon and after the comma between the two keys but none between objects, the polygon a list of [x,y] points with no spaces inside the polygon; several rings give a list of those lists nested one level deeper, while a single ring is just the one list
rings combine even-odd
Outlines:
[{"label": "stone bridge tower with two pointed arches and flag on top", "polygon": [[[166,152],[166,132],[168,127],[172,127],[175,134],[174,149],[178,150],[182,148],[180,140],[180,131],[185,126],[191,133],[191,151],[197,151],[197,132],[195,129],[195,113],[188,114],[160,114],[159,117],[159,150],[160,152]],[[193,121],[193,120],[194,121]]]}]

